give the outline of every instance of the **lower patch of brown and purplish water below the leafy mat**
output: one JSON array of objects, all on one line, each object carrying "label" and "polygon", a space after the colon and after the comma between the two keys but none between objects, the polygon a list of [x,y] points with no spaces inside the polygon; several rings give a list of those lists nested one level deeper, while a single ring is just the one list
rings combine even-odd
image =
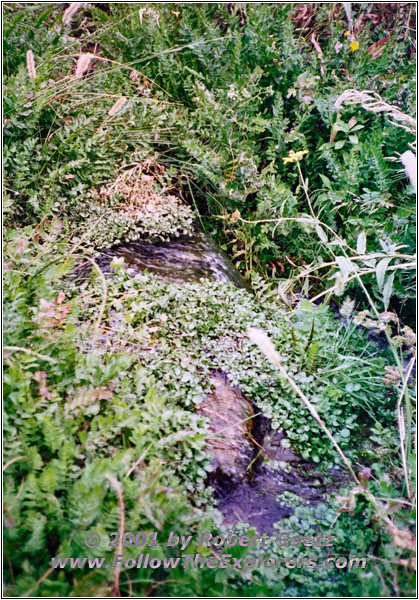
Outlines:
[{"label": "lower patch of brown and purplish water below the leafy mat", "polygon": [[215,374],[214,383],[214,392],[199,411],[210,419],[213,472],[208,484],[226,526],[243,522],[260,534],[273,534],[274,523],[293,513],[293,507],[281,501],[283,492],[315,505],[349,480],[337,470],[316,472],[313,463],[286,447],[286,435],[273,432],[269,420],[225,374]]}]

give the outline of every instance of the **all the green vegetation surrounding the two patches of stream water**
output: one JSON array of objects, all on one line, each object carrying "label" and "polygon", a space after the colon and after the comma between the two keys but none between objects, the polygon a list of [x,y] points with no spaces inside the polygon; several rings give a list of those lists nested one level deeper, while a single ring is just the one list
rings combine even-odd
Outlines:
[{"label": "all the green vegetation surrounding the two patches of stream water", "polygon": [[[4,6],[7,595],[414,595],[414,27],[411,3]],[[95,261],[193,221],[252,293]],[[368,568],[53,569],[121,522],[222,528],[214,370],[319,472],[348,461],[276,527],[333,529]]]}]

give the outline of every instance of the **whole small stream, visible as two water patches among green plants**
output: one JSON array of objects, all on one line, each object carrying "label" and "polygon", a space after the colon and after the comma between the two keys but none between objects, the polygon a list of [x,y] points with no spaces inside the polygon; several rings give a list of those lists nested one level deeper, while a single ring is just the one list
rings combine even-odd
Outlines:
[{"label": "whole small stream, visible as two water patches among green plants", "polygon": [[[135,273],[149,271],[176,284],[213,279],[251,291],[224,252],[198,229],[172,241],[138,240],[115,246],[99,252],[95,261],[109,272],[114,257],[122,257]],[[79,275],[83,271],[84,267]],[[328,477],[316,473],[313,464],[284,448],[281,440],[285,434],[272,432],[269,420],[231,385],[225,373],[214,372],[212,381],[214,391],[197,410],[210,421],[213,471],[208,485],[214,489],[225,525],[241,521],[270,534],[275,522],[293,512],[281,502],[282,492],[293,492],[316,504],[344,479],[339,473]]]}]

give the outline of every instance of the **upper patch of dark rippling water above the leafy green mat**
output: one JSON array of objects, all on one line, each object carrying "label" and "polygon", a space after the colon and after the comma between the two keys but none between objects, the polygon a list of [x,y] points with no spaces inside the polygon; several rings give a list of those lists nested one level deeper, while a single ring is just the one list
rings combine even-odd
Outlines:
[{"label": "upper patch of dark rippling water above the leafy green mat", "polygon": [[231,281],[239,288],[249,289],[247,282],[224,252],[198,230],[190,236],[168,242],[138,240],[124,243],[100,251],[100,256],[95,260],[106,272],[115,256],[123,257],[126,266],[136,273],[147,270],[173,283],[213,279]]}]

